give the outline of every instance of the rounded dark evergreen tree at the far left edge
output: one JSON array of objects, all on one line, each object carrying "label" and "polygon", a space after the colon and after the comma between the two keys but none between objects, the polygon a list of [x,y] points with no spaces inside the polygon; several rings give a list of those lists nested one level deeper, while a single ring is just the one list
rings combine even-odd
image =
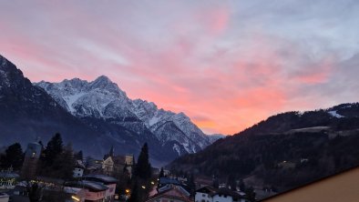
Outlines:
[{"label": "rounded dark evergreen tree at the far left edge", "polygon": [[19,170],[23,165],[23,161],[24,152],[18,143],[8,146],[5,150],[5,155],[1,157],[1,165],[5,169],[13,167],[15,170]]}]

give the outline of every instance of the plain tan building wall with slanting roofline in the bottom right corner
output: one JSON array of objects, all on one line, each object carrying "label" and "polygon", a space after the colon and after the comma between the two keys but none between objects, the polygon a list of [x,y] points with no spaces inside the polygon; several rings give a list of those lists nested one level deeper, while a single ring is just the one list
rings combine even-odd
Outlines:
[{"label": "plain tan building wall with slanting roofline in the bottom right corner", "polygon": [[297,187],[282,194],[264,198],[263,202],[282,201],[359,201],[359,167],[325,177],[303,187]]}]

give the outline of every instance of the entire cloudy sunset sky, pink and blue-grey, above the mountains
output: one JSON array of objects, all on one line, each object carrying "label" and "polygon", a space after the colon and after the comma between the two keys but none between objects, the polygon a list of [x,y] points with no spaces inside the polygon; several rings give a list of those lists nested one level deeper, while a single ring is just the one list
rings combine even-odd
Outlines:
[{"label": "entire cloudy sunset sky, pink and blue-grey, above the mountains", "polygon": [[356,0],[0,0],[0,55],[31,81],[105,75],[208,134],[358,102],[358,35]]}]

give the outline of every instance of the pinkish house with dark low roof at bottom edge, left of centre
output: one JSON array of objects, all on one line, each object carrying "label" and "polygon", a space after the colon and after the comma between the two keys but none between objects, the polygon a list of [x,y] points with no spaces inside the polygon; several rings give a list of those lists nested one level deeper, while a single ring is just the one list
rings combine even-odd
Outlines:
[{"label": "pinkish house with dark low roof at bottom edge, left of centre", "polygon": [[74,194],[72,197],[75,201],[105,201],[106,190],[108,187],[98,182],[87,180],[65,183],[64,191]]}]

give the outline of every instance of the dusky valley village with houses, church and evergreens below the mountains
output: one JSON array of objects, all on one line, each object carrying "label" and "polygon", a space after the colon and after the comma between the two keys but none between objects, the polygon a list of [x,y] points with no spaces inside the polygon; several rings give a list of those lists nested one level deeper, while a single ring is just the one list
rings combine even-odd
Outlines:
[{"label": "dusky valley village with houses, church and evergreens below the mountains", "polygon": [[21,167],[19,159],[12,159],[15,167],[5,167],[9,166],[6,157],[9,161],[16,158],[11,152],[16,151],[17,145],[7,147],[1,161],[0,202],[247,202],[254,199],[238,183],[231,187],[193,174],[150,167],[147,144],[137,159],[132,154],[115,155],[113,146],[102,159],[84,158],[81,151],[69,153],[71,148],[64,146],[60,149],[62,156],[57,154],[59,160],[50,159],[53,165],[46,167],[46,155],[54,155],[50,148],[55,148],[56,143],[58,148],[62,146],[59,134],[47,146],[37,141],[29,143]]}]

